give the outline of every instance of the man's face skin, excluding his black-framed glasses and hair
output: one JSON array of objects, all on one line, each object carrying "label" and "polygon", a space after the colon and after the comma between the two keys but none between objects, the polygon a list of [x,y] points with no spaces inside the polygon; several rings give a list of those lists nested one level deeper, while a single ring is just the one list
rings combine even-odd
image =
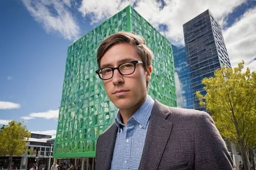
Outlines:
[{"label": "man's face skin, excluding his black-framed glasses and hair", "polygon": [[[100,67],[118,67],[129,61],[142,61],[136,47],[128,43],[113,45],[100,60]],[[133,74],[122,76],[117,69],[112,79],[103,80],[106,93],[119,109],[138,107],[146,98],[146,81],[150,80],[151,66],[144,69],[143,64],[136,64]]]}]

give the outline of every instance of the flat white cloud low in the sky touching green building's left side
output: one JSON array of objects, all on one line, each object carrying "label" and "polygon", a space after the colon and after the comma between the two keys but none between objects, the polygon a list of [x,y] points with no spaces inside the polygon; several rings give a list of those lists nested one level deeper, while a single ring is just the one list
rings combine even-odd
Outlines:
[{"label": "flat white cloud low in the sky touching green building's left side", "polygon": [[58,115],[59,115],[59,110],[48,110],[46,112],[30,113],[28,116],[23,116],[23,118],[26,117],[29,119],[32,119],[32,118],[57,119]]}]

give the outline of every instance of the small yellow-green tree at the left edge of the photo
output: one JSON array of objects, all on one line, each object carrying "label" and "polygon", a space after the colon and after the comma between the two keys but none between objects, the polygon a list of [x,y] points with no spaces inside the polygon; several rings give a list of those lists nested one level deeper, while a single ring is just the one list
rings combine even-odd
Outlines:
[{"label": "small yellow-green tree at the left edge of the photo", "polygon": [[20,122],[11,121],[0,131],[0,155],[9,155],[9,166],[11,167],[13,155],[22,155],[27,151],[26,137],[30,132]]}]

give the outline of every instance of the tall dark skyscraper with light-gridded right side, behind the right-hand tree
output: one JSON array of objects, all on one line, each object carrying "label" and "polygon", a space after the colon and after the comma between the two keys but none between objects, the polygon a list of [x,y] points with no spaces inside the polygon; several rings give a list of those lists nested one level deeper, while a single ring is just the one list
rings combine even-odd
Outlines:
[{"label": "tall dark skyscraper with light-gridded right side, behind the right-hand tree", "polygon": [[202,80],[214,76],[214,71],[223,66],[231,67],[221,28],[209,10],[183,25],[187,64],[190,69],[194,108],[205,110],[199,105],[196,91],[206,94]]}]

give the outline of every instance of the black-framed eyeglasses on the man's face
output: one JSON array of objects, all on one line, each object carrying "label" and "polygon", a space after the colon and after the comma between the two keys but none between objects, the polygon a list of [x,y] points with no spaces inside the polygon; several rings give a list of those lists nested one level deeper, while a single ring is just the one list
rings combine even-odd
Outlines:
[{"label": "black-framed eyeglasses on the man's face", "polygon": [[100,69],[96,70],[95,72],[99,75],[100,79],[109,80],[113,77],[115,69],[117,69],[121,75],[133,74],[137,63],[143,64],[142,61],[129,61],[129,62],[120,64],[118,67],[100,68]]}]

